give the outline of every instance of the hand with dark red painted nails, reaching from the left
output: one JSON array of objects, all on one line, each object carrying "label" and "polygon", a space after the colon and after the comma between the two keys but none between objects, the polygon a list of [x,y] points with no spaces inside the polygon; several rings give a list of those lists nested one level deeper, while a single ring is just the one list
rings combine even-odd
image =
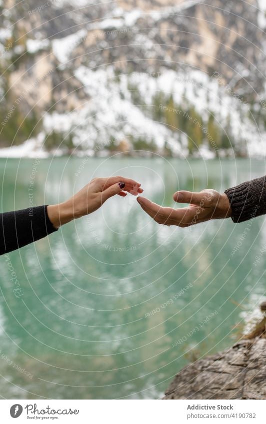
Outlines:
[{"label": "hand with dark red painted nails, reaching from the left", "polygon": [[137,196],[143,192],[140,185],[134,180],[123,177],[94,178],[65,202],[47,206],[49,220],[55,228],[58,228],[72,219],[94,212],[115,194],[124,197],[127,191]]}]

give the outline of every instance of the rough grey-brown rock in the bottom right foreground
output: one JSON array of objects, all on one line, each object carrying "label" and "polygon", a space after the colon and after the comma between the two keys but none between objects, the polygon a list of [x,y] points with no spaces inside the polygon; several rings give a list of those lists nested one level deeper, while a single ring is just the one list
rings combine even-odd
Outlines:
[{"label": "rough grey-brown rock in the bottom right foreground", "polygon": [[188,365],[163,399],[266,399],[266,339],[241,340]]}]

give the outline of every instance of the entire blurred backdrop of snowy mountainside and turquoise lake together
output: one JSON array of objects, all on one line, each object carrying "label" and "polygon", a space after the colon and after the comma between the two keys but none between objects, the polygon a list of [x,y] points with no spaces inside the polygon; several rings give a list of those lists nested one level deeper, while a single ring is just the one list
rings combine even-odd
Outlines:
[{"label": "entire blurred backdrop of snowy mountainside and turquoise lake together", "polygon": [[[176,207],[265,175],[265,3],[0,1],[1,211],[95,176]],[[1,256],[0,397],[160,398],[258,316],[265,228],[163,227],[116,196]]]}]

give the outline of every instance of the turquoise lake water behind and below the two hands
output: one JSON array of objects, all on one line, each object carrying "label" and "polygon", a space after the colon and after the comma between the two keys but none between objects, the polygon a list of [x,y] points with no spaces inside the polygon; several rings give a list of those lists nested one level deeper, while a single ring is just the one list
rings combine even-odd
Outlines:
[{"label": "turquoise lake water behind and below the two hands", "polygon": [[[266,173],[264,161],[247,159],[91,158],[81,172],[82,158],[34,163],[0,159],[2,211],[29,206],[34,167],[34,205],[66,199],[95,176],[133,177],[143,195],[172,206],[178,189],[222,191]],[[264,216],[168,228],[128,195],[9,262],[1,256],[0,396],[161,397],[184,365],[231,345],[257,309],[266,256],[253,263],[265,243]]]}]

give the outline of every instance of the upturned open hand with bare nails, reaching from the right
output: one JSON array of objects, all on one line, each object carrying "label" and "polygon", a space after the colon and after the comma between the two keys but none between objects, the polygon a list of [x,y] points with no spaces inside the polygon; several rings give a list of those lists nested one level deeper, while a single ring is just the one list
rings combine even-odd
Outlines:
[{"label": "upturned open hand with bare nails, reaching from the right", "polygon": [[138,197],[141,208],[158,224],[189,227],[210,219],[228,218],[231,216],[231,207],[225,193],[215,190],[202,190],[199,193],[177,191],[173,200],[179,203],[189,203],[188,207],[172,209],[163,208],[152,203],[145,197]]}]

